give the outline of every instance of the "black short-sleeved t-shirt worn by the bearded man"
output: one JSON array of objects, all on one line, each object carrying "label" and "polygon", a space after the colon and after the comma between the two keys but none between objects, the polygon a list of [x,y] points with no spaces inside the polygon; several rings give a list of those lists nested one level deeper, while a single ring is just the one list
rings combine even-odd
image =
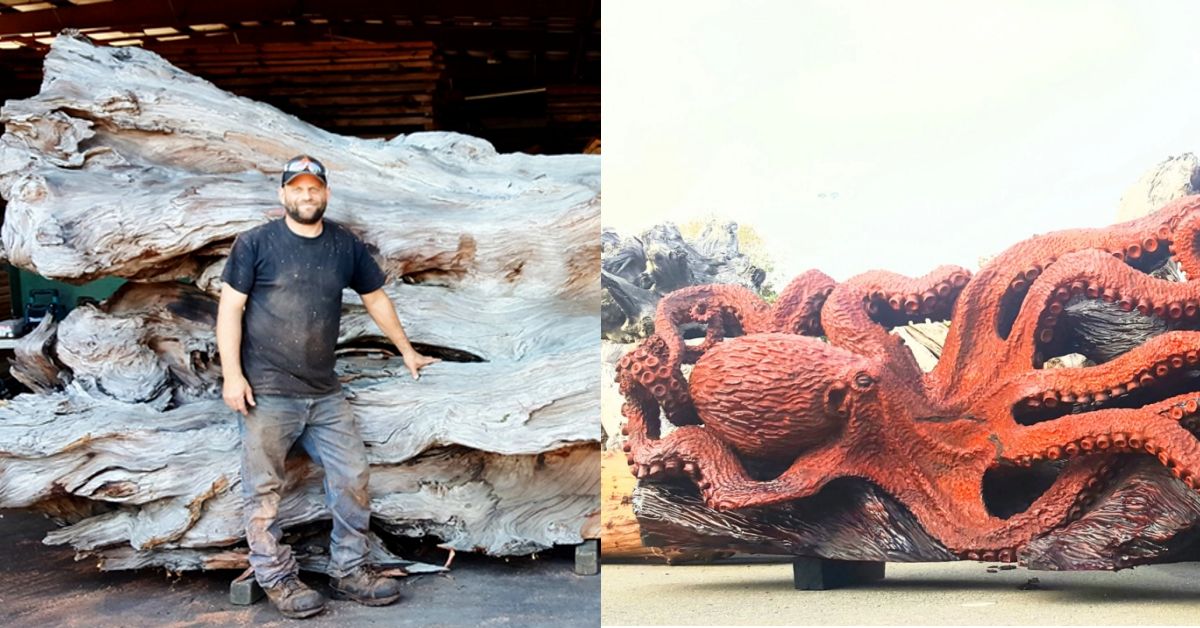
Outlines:
[{"label": "black short-sleeved t-shirt worn by the bearded man", "polygon": [[274,220],[233,244],[222,281],[247,294],[241,367],[254,393],[319,396],[337,393],[334,349],[342,321],[342,289],[359,294],[386,276],[366,245],[325,221],[316,238]]}]

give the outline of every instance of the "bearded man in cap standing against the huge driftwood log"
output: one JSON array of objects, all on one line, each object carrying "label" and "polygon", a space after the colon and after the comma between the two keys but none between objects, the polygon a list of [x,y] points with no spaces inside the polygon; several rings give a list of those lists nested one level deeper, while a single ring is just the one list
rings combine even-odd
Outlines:
[{"label": "bearded man in cap standing against the huge driftwood log", "polygon": [[310,156],[284,165],[280,202],[286,216],[238,237],[222,275],[217,313],[223,396],[241,414],[250,564],[288,617],[308,617],[325,608],[324,597],[300,581],[290,548],[281,543],[283,462],[296,439],[325,471],[335,596],[368,605],[400,597],[396,580],[366,566],[371,509],[365,447],[334,373],[342,291],[361,294],[367,313],[400,349],[414,379],[438,361],[408,342],[383,291],[386,277],[362,241],[322,220],[326,184],[325,167]]}]

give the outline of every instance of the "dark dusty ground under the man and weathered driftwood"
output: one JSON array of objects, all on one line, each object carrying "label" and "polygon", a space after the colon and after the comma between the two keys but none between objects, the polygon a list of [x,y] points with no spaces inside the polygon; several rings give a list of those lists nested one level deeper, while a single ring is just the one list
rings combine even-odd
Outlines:
[{"label": "dark dusty ground under the man and weathered driftwood", "polygon": [[[73,551],[42,545],[53,525],[29,513],[0,510],[0,623],[8,626],[283,626],[294,624],[265,599],[229,604],[236,573],[168,576],[161,569],[98,572]],[[302,626],[598,626],[600,579],[578,576],[570,549],[539,560],[460,554],[448,575],[404,579],[394,606],[331,602]],[[323,576],[306,581],[328,594]]]}]

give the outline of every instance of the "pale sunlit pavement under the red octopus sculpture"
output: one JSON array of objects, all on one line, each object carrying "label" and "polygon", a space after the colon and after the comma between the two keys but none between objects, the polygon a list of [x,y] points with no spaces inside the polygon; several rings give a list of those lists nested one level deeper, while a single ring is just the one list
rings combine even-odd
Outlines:
[{"label": "pale sunlit pavement under the red octopus sculpture", "polygon": [[[791,564],[605,564],[601,621],[631,624],[1200,624],[1200,563],[1122,572],[889,564],[880,582],[796,591]],[[1036,588],[1022,590],[1031,578]]]}]

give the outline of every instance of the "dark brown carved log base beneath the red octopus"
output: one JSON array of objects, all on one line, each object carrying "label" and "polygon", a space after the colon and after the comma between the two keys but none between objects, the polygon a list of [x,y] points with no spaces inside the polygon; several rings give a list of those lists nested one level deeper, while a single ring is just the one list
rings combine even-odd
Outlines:
[{"label": "dark brown carved log base beneath the red octopus", "polygon": [[[1120,569],[1194,560],[1193,526],[1200,514],[1194,491],[1148,461],[1132,463],[1114,485],[1094,512],[1032,542],[1026,567]],[[642,483],[634,490],[632,504],[650,550],[720,549],[872,562],[954,560],[904,506],[854,480],[839,480],[808,500],[732,513],[704,506],[695,488]]]}]

